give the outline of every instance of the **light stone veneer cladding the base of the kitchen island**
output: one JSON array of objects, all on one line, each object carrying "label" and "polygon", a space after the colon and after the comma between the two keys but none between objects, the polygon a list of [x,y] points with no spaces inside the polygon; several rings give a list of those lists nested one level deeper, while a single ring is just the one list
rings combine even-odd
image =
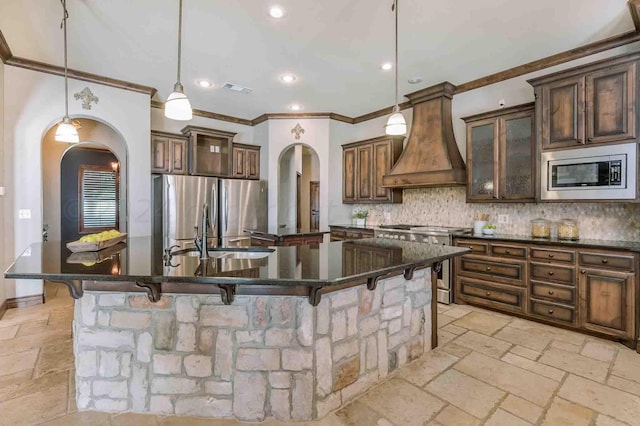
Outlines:
[{"label": "light stone veneer cladding the base of the kitchen island", "polygon": [[85,292],[76,301],[81,410],[310,420],[431,346],[430,269],[322,297]]}]

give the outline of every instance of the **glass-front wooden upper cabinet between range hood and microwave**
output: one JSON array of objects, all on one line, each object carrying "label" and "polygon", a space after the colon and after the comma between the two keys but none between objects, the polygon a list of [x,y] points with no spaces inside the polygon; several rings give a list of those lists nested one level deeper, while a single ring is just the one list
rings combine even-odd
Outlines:
[{"label": "glass-front wooden upper cabinet between range hood and microwave", "polygon": [[467,201],[533,202],[534,104],[465,117]]}]

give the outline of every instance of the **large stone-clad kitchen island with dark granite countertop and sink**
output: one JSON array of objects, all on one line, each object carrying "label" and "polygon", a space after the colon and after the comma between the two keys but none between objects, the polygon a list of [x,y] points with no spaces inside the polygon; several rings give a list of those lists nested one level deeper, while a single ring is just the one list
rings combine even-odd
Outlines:
[{"label": "large stone-clad kitchen island with dark granite countertop and sink", "polygon": [[78,298],[81,410],[321,418],[437,344],[429,268],[469,251],[359,240],[200,261],[152,247],[129,238],[91,259],[38,243],[5,274]]}]

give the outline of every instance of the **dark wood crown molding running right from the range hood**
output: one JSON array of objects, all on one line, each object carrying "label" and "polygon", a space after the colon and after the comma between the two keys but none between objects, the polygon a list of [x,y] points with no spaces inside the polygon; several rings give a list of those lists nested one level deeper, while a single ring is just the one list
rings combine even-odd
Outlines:
[{"label": "dark wood crown molding running right from the range hood", "polygon": [[640,41],[640,31],[629,31],[624,34],[605,38],[604,40],[599,40],[585,44],[584,46],[556,53],[555,55],[547,56],[546,58],[518,65],[517,67],[509,68],[495,74],[490,74],[476,80],[468,81],[458,85],[455,94],[458,95],[460,93],[468,92],[469,90],[489,86],[504,80],[540,71],[555,65],[564,64],[565,62],[574,61],[576,59],[584,58],[585,56],[594,55],[605,50],[614,49],[637,41]]}]

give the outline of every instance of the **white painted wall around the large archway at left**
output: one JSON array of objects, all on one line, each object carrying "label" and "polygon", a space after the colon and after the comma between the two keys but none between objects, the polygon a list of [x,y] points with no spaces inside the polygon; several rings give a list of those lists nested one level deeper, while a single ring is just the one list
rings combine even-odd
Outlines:
[{"label": "white painted wall around the large archway at left", "polygon": [[[42,139],[64,114],[64,80],[61,77],[15,67],[4,69],[5,256],[13,260],[29,244],[42,239]],[[91,110],[81,107],[73,94],[89,87],[100,102]],[[109,124],[127,143],[129,175],[129,223],[131,236],[151,233],[150,217],[150,106],[149,97],[82,81],[69,80],[72,118],[86,117]],[[31,219],[17,219],[20,209],[31,210]],[[6,297],[42,293],[40,281],[6,282]]]}]

